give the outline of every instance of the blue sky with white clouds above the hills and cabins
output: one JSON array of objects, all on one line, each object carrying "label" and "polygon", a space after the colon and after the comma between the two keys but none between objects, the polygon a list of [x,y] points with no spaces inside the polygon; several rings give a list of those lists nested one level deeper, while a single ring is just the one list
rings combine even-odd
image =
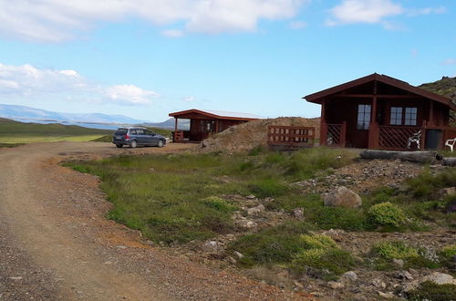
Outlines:
[{"label": "blue sky with white clouds above the hills and cabins", "polygon": [[377,72],[456,77],[454,0],[0,0],[0,103],[162,121],[318,117]]}]

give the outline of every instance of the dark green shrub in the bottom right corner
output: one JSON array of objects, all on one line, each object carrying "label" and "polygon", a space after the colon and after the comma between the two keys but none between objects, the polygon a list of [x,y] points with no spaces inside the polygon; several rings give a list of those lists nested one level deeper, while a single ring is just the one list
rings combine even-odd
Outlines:
[{"label": "dark green shrub in the bottom right corner", "polygon": [[407,293],[409,300],[448,301],[456,300],[456,285],[437,285],[426,281]]}]

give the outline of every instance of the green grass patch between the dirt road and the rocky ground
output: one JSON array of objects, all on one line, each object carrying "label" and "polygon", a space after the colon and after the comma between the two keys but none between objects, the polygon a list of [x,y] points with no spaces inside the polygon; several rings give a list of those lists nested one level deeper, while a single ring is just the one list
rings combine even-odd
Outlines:
[{"label": "green grass patch between the dirt road and the rocky ground", "polygon": [[292,154],[262,150],[250,156],[157,154],[69,165],[101,177],[101,187],[114,204],[109,218],[139,229],[150,240],[182,244],[233,231],[231,215],[238,204],[225,195],[274,197],[270,210],[291,211],[306,203],[323,207],[319,196],[302,195],[289,183],[343,166],[353,156],[328,149]]}]

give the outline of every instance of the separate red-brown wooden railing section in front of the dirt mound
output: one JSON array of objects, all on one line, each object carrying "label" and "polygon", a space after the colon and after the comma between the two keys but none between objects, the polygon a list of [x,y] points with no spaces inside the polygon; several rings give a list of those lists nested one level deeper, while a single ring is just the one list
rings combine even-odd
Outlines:
[{"label": "separate red-brown wooden railing section in front of the dirt mound", "polygon": [[268,145],[314,146],[314,127],[269,126],[267,129]]}]

